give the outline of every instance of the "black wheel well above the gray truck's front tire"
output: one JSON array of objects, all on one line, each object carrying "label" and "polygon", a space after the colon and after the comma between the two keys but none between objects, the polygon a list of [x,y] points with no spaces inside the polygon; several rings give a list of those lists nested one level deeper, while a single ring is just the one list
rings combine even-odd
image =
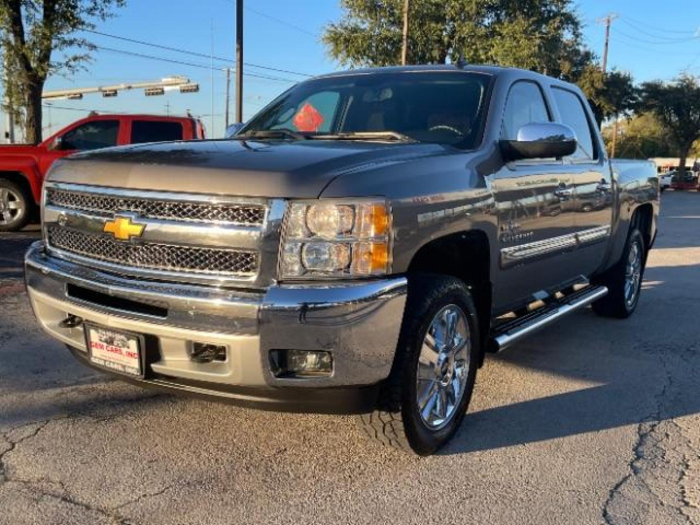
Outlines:
[{"label": "black wheel well above the gray truck's front tire", "polygon": [[446,235],[430,241],[411,260],[408,272],[428,272],[461,279],[468,284],[479,314],[482,358],[491,329],[491,251],[480,230]]}]

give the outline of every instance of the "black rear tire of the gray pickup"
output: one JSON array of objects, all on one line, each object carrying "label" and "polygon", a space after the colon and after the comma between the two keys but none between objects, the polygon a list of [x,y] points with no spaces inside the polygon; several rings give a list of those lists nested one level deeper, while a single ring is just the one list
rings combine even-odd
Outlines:
[{"label": "black rear tire of the gray pickup", "polygon": [[[638,249],[638,256],[640,257],[640,268],[638,279],[636,279],[636,284],[634,285],[633,299],[630,300],[626,292],[626,285],[628,283],[627,274],[630,253],[635,249],[635,246],[636,249]],[[596,279],[596,283],[608,287],[608,295],[605,295],[605,297],[593,303],[593,309],[596,314],[605,317],[625,319],[634,313],[639,302],[639,295],[644,277],[646,262],[645,250],[644,237],[636,225],[633,224],[627,235],[622,257],[615,263],[615,266],[608,269],[599,279]]]}]

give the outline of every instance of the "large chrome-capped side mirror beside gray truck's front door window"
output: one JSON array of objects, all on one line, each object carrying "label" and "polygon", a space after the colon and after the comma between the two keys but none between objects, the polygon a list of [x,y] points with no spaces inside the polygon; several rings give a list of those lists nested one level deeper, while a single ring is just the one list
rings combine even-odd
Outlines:
[{"label": "large chrome-capped side mirror beside gray truck's front door window", "polygon": [[517,140],[500,141],[507,160],[561,158],[576,152],[574,130],[559,123],[529,123],[518,130]]}]

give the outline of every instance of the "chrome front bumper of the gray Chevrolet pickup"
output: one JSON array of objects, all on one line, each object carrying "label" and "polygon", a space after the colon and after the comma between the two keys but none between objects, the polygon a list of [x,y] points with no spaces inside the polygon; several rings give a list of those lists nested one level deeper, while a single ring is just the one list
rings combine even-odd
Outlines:
[{"label": "chrome front bumper of the gray Chevrolet pickup", "polygon": [[[52,256],[41,241],[27,252],[25,274],[43,329],[85,363],[83,328],[59,326],[69,314],[145,335],[151,358],[137,381],[146,386],[314,412],[360,411],[334,405],[386,379],[407,293],[403,277],[265,292],[125,279]],[[195,363],[193,342],[224,344],[228,357]],[[269,352],[279,349],[330,351],[332,375],[274,377]]]}]

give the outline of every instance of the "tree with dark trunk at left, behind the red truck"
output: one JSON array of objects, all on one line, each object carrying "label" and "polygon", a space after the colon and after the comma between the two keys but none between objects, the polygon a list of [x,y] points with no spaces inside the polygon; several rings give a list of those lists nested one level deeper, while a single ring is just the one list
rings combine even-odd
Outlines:
[{"label": "tree with dark trunk at left, behind the red truck", "polygon": [[3,84],[10,105],[22,110],[27,141],[41,141],[41,92],[48,76],[80,69],[94,48],[76,31],[93,29],[94,21],[124,5],[125,0],[0,0]]}]

